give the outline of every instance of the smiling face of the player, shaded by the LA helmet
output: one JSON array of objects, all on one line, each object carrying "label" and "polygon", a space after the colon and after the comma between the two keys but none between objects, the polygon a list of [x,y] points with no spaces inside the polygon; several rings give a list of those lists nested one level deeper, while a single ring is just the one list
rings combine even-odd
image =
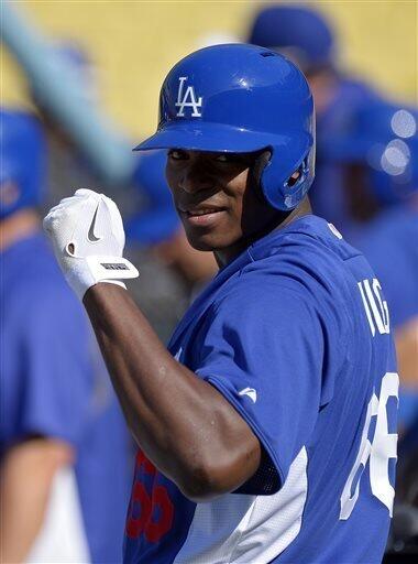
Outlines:
[{"label": "smiling face of the player, shaded by the LA helmet", "polygon": [[254,153],[172,150],[166,175],[195,249],[240,252],[276,216],[250,182]]}]

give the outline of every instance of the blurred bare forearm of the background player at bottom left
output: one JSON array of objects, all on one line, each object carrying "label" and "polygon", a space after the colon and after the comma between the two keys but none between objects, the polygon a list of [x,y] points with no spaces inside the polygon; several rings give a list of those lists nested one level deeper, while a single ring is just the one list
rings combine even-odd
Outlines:
[{"label": "blurred bare forearm of the background player at bottom left", "polygon": [[6,455],[0,477],[1,563],[24,562],[41,531],[54,475],[70,459],[69,446],[42,437]]}]

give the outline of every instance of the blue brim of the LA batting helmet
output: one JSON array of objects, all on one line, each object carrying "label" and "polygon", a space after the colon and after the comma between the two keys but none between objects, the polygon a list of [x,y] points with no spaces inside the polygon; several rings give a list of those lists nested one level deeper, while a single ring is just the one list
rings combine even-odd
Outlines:
[{"label": "blue brim of the LA batting helmet", "polygon": [[184,149],[187,151],[250,153],[272,145],[287,145],[292,141],[295,142],[287,135],[272,135],[272,133],[249,131],[221,123],[194,121],[166,126],[136,145],[133,151]]}]

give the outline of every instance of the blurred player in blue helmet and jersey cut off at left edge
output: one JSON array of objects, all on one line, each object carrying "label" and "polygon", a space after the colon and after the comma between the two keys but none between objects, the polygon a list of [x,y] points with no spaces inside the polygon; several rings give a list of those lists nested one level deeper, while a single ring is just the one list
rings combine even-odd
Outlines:
[{"label": "blurred player in blue helmet and jersey cut off at left edge", "polygon": [[46,143],[0,110],[1,560],[121,561],[125,425],[85,313],[43,232]]}]

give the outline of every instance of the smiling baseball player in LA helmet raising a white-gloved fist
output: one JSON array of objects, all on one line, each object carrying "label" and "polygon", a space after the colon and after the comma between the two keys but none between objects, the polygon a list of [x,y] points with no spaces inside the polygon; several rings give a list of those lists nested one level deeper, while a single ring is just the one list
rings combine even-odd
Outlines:
[{"label": "smiling baseball player in LA helmet raising a white-gloved fist", "polygon": [[168,150],[188,240],[220,267],[168,350],[123,288],[138,272],[116,205],[81,189],[44,220],[140,446],[125,562],[380,562],[397,437],[391,323],[366,260],[311,215],[304,75],[252,45],[193,53],[136,149]]}]

